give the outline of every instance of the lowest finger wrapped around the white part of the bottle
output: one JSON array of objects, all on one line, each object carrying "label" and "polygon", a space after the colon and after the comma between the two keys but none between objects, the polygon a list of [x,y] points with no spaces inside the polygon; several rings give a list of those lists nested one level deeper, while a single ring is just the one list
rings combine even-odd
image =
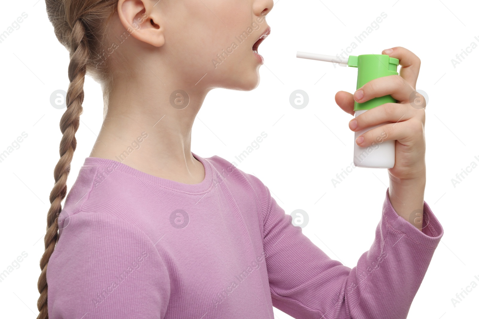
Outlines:
[{"label": "lowest finger wrapped around the white part of the bottle", "polygon": [[388,123],[364,132],[358,136],[356,143],[361,147],[380,144],[388,140],[397,140],[399,143],[411,146],[415,140],[422,140],[424,126],[421,121],[411,119],[397,123]]}]

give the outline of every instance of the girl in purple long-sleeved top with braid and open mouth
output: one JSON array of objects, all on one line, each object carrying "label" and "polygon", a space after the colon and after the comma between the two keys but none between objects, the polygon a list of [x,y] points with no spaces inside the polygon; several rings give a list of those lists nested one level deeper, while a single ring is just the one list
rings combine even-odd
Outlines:
[{"label": "girl in purple long-sleeved top with braid and open mouth", "polygon": [[[349,268],[293,226],[258,178],[190,150],[209,90],[257,87],[272,0],[46,5],[70,52],[70,85],[38,318],[273,319],[273,306],[294,318],[406,318],[443,235],[423,200],[425,116],[409,104],[416,55],[385,50],[400,60],[400,76],[336,95],[350,114],[354,99],[399,101],[349,124],[391,122],[359,137],[361,146],[383,133],[397,140],[375,240]],[[102,84],[103,127],[62,209],[86,74]]]}]

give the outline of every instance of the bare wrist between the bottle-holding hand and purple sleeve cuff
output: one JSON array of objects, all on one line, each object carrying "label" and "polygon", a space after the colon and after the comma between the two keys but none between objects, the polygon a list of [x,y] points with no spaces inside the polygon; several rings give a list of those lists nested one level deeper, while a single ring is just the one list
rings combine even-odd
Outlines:
[{"label": "bare wrist between the bottle-holding hand and purple sleeve cuff", "polygon": [[417,229],[422,229],[425,172],[413,180],[389,179],[389,200],[398,215]]}]

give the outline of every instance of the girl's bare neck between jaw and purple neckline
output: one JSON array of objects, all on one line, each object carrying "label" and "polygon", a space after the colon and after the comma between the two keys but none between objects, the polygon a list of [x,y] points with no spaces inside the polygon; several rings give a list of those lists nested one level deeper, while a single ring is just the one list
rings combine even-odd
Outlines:
[{"label": "girl's bare neck between jaw and purple neckline", "polygon": [[[185,88],[190,100],[182,109],[184,104],[173,107],[170,103],[174,85],[164,85],[154,76],[147,81],[154,85],[139,83],[114,85],[90,156],[186,184],[201,182],[204,169],[191,154],[191,131],[206,92]],[[182,98],[177,96],[177,102]]]}]

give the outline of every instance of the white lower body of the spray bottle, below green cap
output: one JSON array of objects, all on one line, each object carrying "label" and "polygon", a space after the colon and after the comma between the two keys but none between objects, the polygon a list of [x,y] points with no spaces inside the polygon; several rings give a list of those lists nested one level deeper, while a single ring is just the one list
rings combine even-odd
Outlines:
[{"label": "white lower body of the spray bottle, below green cap", "polygon": [[[367,110],[357,110],[354,112],[354,117],[358,117]],[[354,132],[354,165],[358,167],[376,167],[376,168],[392,168],[394,167],[394,161],[396,157],[396,140],[384,141],[387,137],[386,133],[378,135],[375,141],[368,147],[361,147],[356,144],[356,139],[369,130],[372,130],[378,126],[388,124],[390,122],[384,122],[378,125],[374,125],[365,128],[361,131]]]}]

